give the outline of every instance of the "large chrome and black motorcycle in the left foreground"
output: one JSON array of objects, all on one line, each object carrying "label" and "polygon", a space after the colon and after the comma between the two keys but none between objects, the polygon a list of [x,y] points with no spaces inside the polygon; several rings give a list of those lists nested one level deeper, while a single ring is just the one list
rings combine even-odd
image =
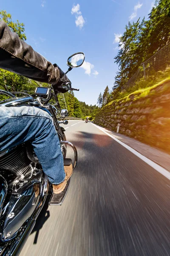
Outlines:
[{"label": "large chrome and black motorcycle in the left foreground", "polygon": [[[65,74],[74,67],[80,67],[84,59],[83,52],[71,55],[67,61],[69,68]],[[79,90],[72,88],[70,83],[63,84],[62,87],[67,90]],[[24,96],[16,96],[21,93]],[[10,106],[28,105],[47,111],[54,120],[64,165],[69,166],[72,162],[71,159],[66,158],[67,146],[71,146],[74,151],[73,169],[75,169],[77,149],[72,143],[66,141],[65,129],[60,126],[61,123],[68,124],[65,119],[68,111],[66,109],[60,110],[58,93],[59,91],[54,91],[53,88],[48,87],[37,87],[34,95],[25,92],[0,90],[0,94],[10,97],[0,102],[0,105],[8,108]],[[53,97],[56,103],[51,105],[49,102]],[[57,118],[58,113],[64,119],[63,121]],[[34,228],[48,194],[52,193],[49,205],[61,205],[68,192],[70,181],[71,178],[63,192],[58,195],[54,194],[52,184],[42,171],[42,166],[29,142],[0,152],[0,256],[16,256],[20,253]],[[38,195],[35,194],[37,188]]]}]

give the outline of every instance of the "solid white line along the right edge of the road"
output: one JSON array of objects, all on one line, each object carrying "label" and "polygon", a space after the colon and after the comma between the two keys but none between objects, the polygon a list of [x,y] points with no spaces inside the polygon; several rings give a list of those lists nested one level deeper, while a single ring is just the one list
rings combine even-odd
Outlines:
[{"label": "solid white line along the right edge of the road", "polygon": [[153,167],[157,172],[160,172],[162,175],[164,175],[165,177],[167,177],[167,179],[170,180],[170,172],[168,172],[166,169],[164,169],[163,167],[159,166],[157,163],[154,163],[152,160],[150,160],[147,157],[144,157],[144,155],[140,154],[138,151],[136,151],[135,149],[131,148],[130,146],[128,146],[127,144],[123,143],[122,141],[116,139],[113,135],[109,134],[108,132],[104,131],[102,128],[100,128],[99,126],[91,123],[92,125],[96,126],[96,128],[98,128],[99,130],[101,130],[102,132],[104,132],[105,134],[107,134],[108,136],[110,136],[113,140],[116,140],[116,142],[118,142],[119,144],[121,144],[123,147],[127,148],[130,152],[132,152],[133,154],[135,154],[137,157],[139,157],[141,160],[143,160],[145,163],[147,163],[149,166]]}]

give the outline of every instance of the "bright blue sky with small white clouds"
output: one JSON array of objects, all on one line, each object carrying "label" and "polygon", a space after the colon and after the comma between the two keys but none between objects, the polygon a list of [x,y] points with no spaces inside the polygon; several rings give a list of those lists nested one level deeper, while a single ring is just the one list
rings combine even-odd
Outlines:
[{"label": "bright blue sky with small white clouds", "polygon": [[63,71],[74,52],[85,53],[85,64],[68,73],[75,96],[96,104],[100,92],[113,87],[118,67],[114,57],[119,36],[129,20],[147,17],[153,0],[0,0],[13,20],[25,24],[27,43]]}]

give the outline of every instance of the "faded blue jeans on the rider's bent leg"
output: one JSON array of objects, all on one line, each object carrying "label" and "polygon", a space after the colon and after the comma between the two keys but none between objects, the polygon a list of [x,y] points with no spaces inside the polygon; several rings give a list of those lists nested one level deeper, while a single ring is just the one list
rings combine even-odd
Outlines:
[{"label": "faded blue jeans on the rider's bent leg", "polygon": [[64,163],[57,131],[51,116],[35,107],[0,106],[0,151],[30,141],[53,184],[65,179]]}]

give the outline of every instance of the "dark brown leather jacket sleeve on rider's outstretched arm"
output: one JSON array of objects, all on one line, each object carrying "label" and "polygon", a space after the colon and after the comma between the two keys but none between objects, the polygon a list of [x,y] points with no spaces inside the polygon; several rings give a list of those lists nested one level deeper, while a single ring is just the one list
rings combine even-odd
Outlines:
[{"label": "dark brown leather jacket sleeve on rider's outstretched arm", "polygon": [[59,70],[0,21],[0,68],[40,82],[57,84]]}]

